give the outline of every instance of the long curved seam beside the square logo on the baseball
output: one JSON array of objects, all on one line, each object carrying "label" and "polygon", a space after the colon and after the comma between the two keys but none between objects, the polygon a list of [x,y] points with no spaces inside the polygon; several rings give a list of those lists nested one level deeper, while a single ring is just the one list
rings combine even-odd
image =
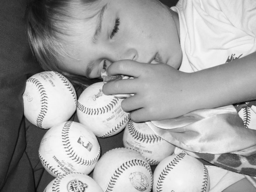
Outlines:
[{"label": "long curved seam beside the square logo on the baseball", "polygon": [[71,124],[72,124],[72,121],[65,122],[61,132],[62,144],[65,146],[64,147],[66,150],[65,152],[67,153],[68,157],[71,158],[72,160],[75,160],[77,164],[92,165],[96,163],[100,156],[100,150],[98,152],[98,155],[90,160],[85,160],[84,158],[78,156],[75,150],[73,150],[69,140],[69,130],[70,130]]}]

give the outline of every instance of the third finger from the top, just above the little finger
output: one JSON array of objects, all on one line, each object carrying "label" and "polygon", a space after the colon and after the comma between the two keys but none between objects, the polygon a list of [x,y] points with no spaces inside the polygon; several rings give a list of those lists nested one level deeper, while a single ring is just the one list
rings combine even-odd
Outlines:
[{"label": "third finger from the top, just above the little finger", "polygon": [[125,112],[131,112],[133,110],[139,109],[143,107],[143,103],[141,100],[138,100],[137,95],[133,95],[132,97],[128,97],[121,102],[121,107]]}]

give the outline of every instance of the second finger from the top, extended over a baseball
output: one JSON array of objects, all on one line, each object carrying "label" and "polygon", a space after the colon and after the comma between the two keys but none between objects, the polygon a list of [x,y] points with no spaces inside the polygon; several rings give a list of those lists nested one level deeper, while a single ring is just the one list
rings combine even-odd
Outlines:
[{"label": "second finger from the top, extended over a baseball", "polygon": [[105,95],[136,93],[136,82],[136,79],[122,79],[118,81],[110,81],[103,85],[102,92]]}]

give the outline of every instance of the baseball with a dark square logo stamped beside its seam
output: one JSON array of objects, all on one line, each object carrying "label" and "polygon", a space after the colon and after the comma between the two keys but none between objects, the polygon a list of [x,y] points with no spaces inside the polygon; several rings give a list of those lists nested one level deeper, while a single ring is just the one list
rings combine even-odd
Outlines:
[{"label": "baseball with a dark square logo stamped beside its seam", "polygon": [[100,145],[93,132],[72,121],[49,129],[39,146],[41,163],[54,177],[69,172],[89,174],[99,156]]}]

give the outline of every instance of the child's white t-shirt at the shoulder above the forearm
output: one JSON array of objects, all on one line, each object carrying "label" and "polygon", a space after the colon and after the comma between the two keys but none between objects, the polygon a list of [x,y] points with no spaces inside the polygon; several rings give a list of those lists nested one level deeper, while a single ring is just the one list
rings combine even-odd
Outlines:
[{"label": "child's white t-shirt at the shoulder above the forearm", "polygon": [[255,0],[180,0],[180,70],[194,72],[256,51]]}]

